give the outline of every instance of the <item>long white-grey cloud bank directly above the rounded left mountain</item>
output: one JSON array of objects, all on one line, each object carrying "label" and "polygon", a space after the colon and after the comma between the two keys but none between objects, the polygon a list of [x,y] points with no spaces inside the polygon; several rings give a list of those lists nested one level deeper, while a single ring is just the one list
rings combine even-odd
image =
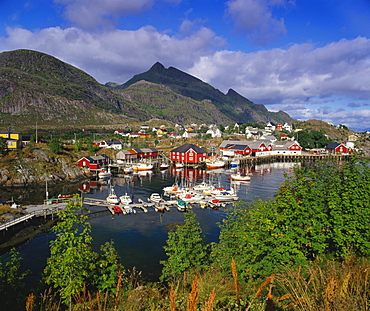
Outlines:
[{"label": "long white-grey cloud bank directly above the rounded left mountain", "polygon": [[101,83],[124,83],[157,61],[186,70],[222,41],[205,27],[181,39],[151,26],[94,34],[75,27],[51,27],[35,32],[8,28],[7,32],[8,37],[0,39],[1,50],[41,51],[81,68]]}]

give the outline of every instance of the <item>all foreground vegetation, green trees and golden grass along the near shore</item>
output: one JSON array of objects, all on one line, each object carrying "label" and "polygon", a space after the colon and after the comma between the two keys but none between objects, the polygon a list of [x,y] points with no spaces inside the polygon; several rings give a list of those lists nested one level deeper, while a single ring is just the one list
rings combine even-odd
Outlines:
[{"label": "all foreground vegetation, green trees and golden grass along the near shore", "polygon": [[276,197],[228,211],[208,245],[189,212],[169,232],[158,283],[125,269],[113,243],[93,252],[71,203],[40,288],[22,290],[14,253],[0,268],[1,301],[8,310],[25,301],[26,310],[369,310],[369,184],[369,159],[297,167]]}]

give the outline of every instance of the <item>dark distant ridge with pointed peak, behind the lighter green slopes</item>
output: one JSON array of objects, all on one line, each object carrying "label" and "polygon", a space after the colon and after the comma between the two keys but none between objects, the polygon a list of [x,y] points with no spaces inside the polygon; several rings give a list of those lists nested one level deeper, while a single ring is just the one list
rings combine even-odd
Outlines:
[{"label": "dark distant ridge with pointed peak, behind the lighter green slopes", "polygon": [[147,72],[135,75],[120,86],[117,84],[109,85],[115,89],[124,90],[141,80],[168,86],[174,92],[196,101],[211,101],[221,113],[234,122],[270,121],[284,123],[292,121],[292,118],[283,111],[270,112],[264,105],[254,104],[232,89],[225,95],[202,80],[174,67],[166,69],[159,62],[155,63]]}]

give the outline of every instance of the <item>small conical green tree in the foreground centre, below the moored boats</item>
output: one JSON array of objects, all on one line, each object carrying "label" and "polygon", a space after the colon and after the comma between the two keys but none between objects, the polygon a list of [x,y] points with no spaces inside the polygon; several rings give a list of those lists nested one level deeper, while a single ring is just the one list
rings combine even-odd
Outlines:
[{"label": "small conical green tree in the foreground centre, below the moored boats", "polygon": [[208,247],[202,237],[199,223],[195,222],[193,212],[185,214],[184,225],[168,233],[167,245],[164,249],[168,259],[161,261],[164,266],[162,280],[174,280],[192,268],[201,271],[208,266]]}]

